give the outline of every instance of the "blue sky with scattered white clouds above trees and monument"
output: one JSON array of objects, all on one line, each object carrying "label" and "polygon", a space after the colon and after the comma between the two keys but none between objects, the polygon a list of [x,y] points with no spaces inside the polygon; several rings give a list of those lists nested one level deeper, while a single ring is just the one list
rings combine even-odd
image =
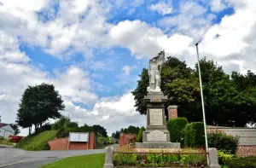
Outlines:
[{"label": "blue sky with scattered white clouds above trees and monument", "polygon": [[0,0],[2,122],[44,82],[79,125],[145,126],[131,90],[149,59],[165,49],[194,68],[200,41],[225,72],[255,72],[255,28],[254,0]]}]

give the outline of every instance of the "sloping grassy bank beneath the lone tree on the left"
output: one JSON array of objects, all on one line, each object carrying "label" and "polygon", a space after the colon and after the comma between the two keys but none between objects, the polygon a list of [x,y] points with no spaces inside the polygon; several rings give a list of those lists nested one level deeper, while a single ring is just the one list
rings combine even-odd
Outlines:
[{"label": "sloping grassy bank beneath the lone tree on the left", "polygon": [[18,148],[25,150],[49,150],[48,141],[55,138],[56,130],[46,130],[40,134],[27,136],[18,144]]}]

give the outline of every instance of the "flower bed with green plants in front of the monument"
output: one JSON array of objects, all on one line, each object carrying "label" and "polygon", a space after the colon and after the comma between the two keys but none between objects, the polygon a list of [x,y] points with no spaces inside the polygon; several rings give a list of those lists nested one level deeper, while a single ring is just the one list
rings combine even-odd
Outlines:
[{"label": "flower bed with green plants in front of the monument", "polygon": [[206,167],[205,151],[183,149],[176,151],[150,150],[137,152],[135,148],[119,148],[113,154],[116,167]]}]

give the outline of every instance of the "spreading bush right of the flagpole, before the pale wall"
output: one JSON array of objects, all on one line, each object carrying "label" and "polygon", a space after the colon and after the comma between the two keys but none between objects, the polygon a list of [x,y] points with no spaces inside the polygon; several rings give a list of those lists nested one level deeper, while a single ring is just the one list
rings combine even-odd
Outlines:
[{"label": "spreading bush right of the flagpole, before the pale wall", "polygon": [[207,135],[207,139],[209,147],[217,148],[226,154],[236,154],[238,136],[228,136],[224,132],[212,132]]}]

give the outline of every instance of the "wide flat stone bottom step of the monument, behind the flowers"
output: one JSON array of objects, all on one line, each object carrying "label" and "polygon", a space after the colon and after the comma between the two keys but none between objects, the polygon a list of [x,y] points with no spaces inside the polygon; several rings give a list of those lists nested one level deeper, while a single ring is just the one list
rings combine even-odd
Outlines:
[{"label": "wide flat stone bottom step of the monument, behind the flowers", "polygon": [[180,148],[179,142],[136,142],[136,148]]}]

